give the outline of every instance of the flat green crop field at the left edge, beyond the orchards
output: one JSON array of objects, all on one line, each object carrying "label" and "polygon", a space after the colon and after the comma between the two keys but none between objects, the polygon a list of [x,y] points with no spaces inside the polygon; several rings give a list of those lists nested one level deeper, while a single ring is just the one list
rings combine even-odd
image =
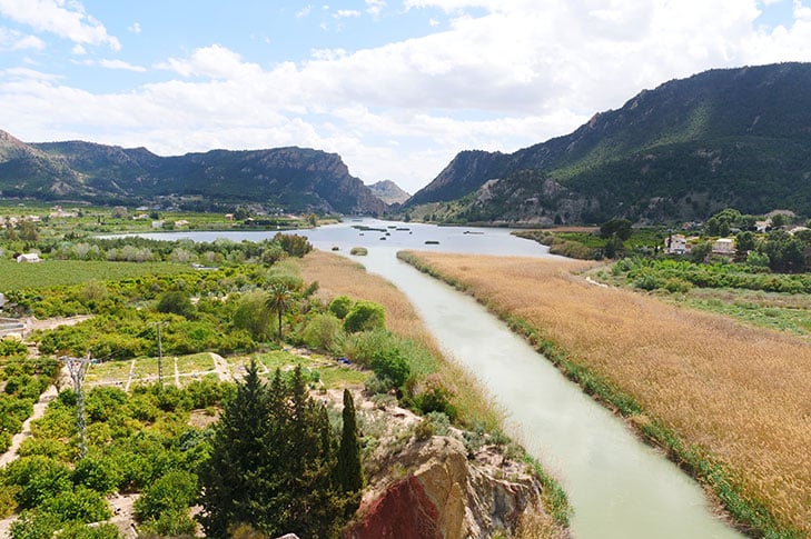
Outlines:
[{"label": "flat green crop field at the left edge, beyond the orchards", "polygon": [[43,260],[38,263],[19,263],[14,260],[0,260],[0,291],[42,289],[92,280],[117,280],[187,271],[191,271],[188,266],[171,262]]}]

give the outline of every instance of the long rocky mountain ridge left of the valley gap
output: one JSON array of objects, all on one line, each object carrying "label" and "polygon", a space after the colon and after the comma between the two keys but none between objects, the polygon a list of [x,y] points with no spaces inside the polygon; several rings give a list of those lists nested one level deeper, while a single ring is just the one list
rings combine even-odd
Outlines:
[{"label": "long rocky mountain ridge left of the valley gap", "polygon": [[238,203],[340,213],[386,209],[336,153],[276,148],[159,157],[145,148],[83,141],[27,144],[2,131],[0,192],[128,204],[170,198],[198,209]]}]

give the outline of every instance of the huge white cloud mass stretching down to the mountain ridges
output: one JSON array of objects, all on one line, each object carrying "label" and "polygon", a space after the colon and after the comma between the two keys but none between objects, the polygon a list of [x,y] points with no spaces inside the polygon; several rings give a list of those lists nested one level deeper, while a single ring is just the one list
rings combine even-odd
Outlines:
[{"label": "huge white cloud mass stretching down to the mountain ridges", "polygon": [[[384,6],[366,2],[367,11]],[[763,6],[406,0],[407,9],[426,9],[427,17],[436,16],[428,10],[449,13],[449,23],[417,39],[314,49],[306,61],[271,67],[211,44],[157,66],[175,80],[120,93],[93,94],[33,71],[7,70],[0,118],[27,130],[12,130],[23,140],[92,140],[87,133],[95,131],[103,133],[99,142],[165,154],[309,146],[340,153],[365,180],[389,178],[413,192],[461,150],[514,151],[565,134],[673,78],[810,61],[811,11],[794,1],[793,22],[764,30],[755,22]],[[333,13],[316,9],[325,18]]]}]

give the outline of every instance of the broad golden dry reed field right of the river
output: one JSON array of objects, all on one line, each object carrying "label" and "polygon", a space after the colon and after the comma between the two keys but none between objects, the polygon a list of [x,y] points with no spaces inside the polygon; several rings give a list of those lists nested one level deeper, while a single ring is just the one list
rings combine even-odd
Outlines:
[{"label": "broad golden dry reed field right of the river", "polygon": [[[811,345],[594,286],[589,262],[417,253],[494,311],[527,321],[725,465],[778,528],[811,537]],[[789,532],[790,533],[790,532]]]}]

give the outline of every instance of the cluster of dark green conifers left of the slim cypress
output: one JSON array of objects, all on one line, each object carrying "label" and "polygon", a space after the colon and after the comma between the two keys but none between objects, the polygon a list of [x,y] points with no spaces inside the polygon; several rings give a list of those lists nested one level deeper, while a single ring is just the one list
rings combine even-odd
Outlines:
[{"label": "cluster of dark green conifers left of the slim cypress", "polygon": [[248,523],[271,537],[326,537],[342,525],[345,501],[333,486],[334,435],[323,405],[307,395],[300,368],[268,388],[251,361],[217,425],[200,469],[201,521],[222,537]]}]

